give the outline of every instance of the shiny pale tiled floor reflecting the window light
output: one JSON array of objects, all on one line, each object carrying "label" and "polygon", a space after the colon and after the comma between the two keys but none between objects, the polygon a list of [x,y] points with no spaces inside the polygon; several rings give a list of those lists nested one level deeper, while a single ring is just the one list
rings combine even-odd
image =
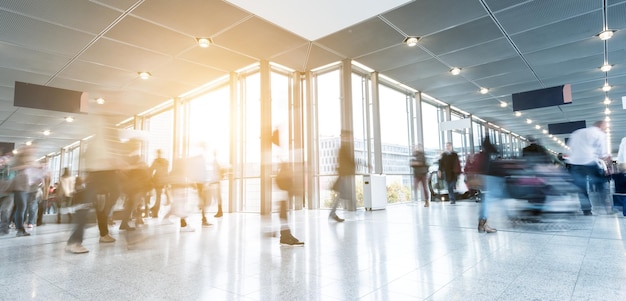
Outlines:
[{"label": "shiny pale tiled floor reflecting the window light", "polygon": [[[435,202],[385,210],[291,215],[304,247],[268,235],[278,219],[211,218],[209,228],[146,219],[117,242],[64,250],[71,225],[0,236],[1,300],[626,300],[626,219],[621,214],[509,223],[478,233],[478,204]],[[273,220],[272,220],[273,219]],[[191,222],[199,224],[199,216]]]}]

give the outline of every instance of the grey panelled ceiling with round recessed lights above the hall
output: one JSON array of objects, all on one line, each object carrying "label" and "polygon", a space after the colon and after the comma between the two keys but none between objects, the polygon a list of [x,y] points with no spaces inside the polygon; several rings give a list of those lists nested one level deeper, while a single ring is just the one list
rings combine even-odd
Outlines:
[{"label": "grey panelled ceiling with round recessed lights above the hall", "polygon": [[[606,0],[608,26],[617,30],[606,42],[595,36],[603,28],[603,0],[244,2],[1,1],[0,142],[32,140],[43,154],[58,151],[84,137],[92,116],[119,122],[260,60],[307,71],[343,59],[520,135],[541,136],[535,124],[603,119],[600,87],[608,78],[615,152],[626,136],[620,102],[626,95],[626,0]],[[265,5],[258,12],[249,6],[259,3]],[[418,46],[404,45],[406,36],[421,37]],[[196,37],[210,37],[214,45],[200,48]],[[614,65],[607,74],[598,69],[605,49]],[[460,75],[448,72],[453,66],[462,68]],[[138,71],[153,76],[140,80]],[[69,114],[15,107],[15,81],[87,92],[89,115],[66,124],[62,118]],[[572,104],[513,115],[512,93],[567,83]],[[479,87],[490,92],[480,94]],[[96,97],[106,104],[95,105]],[[52,134],[43,137],[43,129]]]}]

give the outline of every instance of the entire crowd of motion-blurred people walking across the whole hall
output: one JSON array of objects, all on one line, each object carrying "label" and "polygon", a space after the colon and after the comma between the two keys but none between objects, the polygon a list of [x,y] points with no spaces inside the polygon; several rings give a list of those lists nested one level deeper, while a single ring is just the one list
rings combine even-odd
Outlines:
[{"label": "entire crowd of motion-blurred people walking across the whole hall", "polygon": [[[202,145],[202,151],[195,156],[177,158],[172,164],[163,157],[163,152],[158,150],[156,159],[152,164],[142,160],[140,139],[128,139],[121,142],[119,132],[114,128],[99,127],[99,132],[85,145],[84,151],[84,175],[73,176],[69,168],[64,168],[58,183],[50,185],[50,175],[45,165],[39,163],[34,157],[34,149],[25,147],[15,155],[11,153],[0,158],[0,235],[6,235],[10,231],[10,225],[15,228],[16,237],[29,236],[27,230],[34,225],[41,225],[41,215],[47,211],[44,200],[54,199],[57,204],[57,215],[60,216],[65,208],[69,219],[75,227],[67,241],[67,251],[72,253],[89,252],[82,245],[85,225],[89,211],[96,212],[96,222],[100,234],[100,243],[113,243],[116,241],[109,234],[112,223],[113,207],[118,199],[124,199],[124,209],[121,214],[119,230],[131,232],[141,226],[145,217],[159,218],[169,221],[176,217],[180,222],[181,232],[195,231],[187,218],[190,214],[189,191],[197,193],[198,206],[202,220],[199,226],[210,227],[212,224],[206,213],[211,204],[217,205],[214,218],[223,216],[220,182],[224,178],[224,169],[217,159],[215,151],[210,152],[206,145]],[[528,137],[529,144],[522,150],[524,163],[521,169],[536,170],[542,166],[559,163],[558,168],[567,166],[567,177],[571,177],[571,183],[578,190],[580,210],[583,215],[593,215],[592,202],[589,188],[593,188],[599,200],[596,204],[606,204],[610,208],[610,200],[607,194],[607,181],[610,177],[602,172],[599,162],[611,162],[610,154],[606,147],[606,123],[596,122],[592,127],[580,129],[572,133],[569,139],[570,152],[566,163],[562,157],[552,156],[537,139]],[[354,159],[354,151],[351,149],[353,141],[350,131],[342,131],[342,143],[338,150],[338,179],[332,186],[334,199],[331,204],[329,219],[343,222],[344,218],[337,215],[337,208],[343,201],[354,202],[352,191],[353,176],[356,172],[357,163]],[[278,141],[277,139],[274,139]],[[275,142],[279,146],[279,142]],[[618,157],[626,157],[621,154],[626,152],[620,147]],[[452,143],[446,143],[445,151],[438,160],[437,177],[445,182],[449,204],[457,202],[456,184],[460,175],[468,174],[466,179],[473,179],[480,188],[481,198],[478,210],[478,232],[495,233],[497,230],[487,223],[491,204],[497,200],[510,197],[507,189],[507,176],[511,162],[504,164],[503,160],[496,159],[498,149],[486,137],[482,141],[481,150],[468,158],[465,171],[461,168],[458,154],[454,151]],[[620,162],[625,165],[626,162]],[[471,165],[471,170],[470,170]],[[519,164],[518,164],[519,165]],[[600,164],[601,165],[601,164]],[[279,217],[281,220],[280,243],[291,246],[302,246],[304,242],[297,239],[291,233],[288,222],[288,208],[290,201],[295,197],[303,196],[298,176],[302,171],[293,162],[280,164],[280,172],[276,177],[279,189],[286,192],[287,197],[279,202]],[[424,207],[429,207],[432,195],[428,189],[429,162],[422,145],[417,145],[412,152],[410,166],[413,169],[413,188],[417,196],[421,192]],[[600,171],[599,171],[600,170]],[[471,176],[473,177],[470,177]],[[2,187],[10,185],[10,187]],[[44,189],[45,187],[45,189]],[[50,187],[50,189],[48,189]],[[420,189],[421,188],[421,189]],[[150,202],[151,194],[154,193],[155,201]],[[150,205],[152,205],[150,207]],[[164,206],[170,206],[168,211],[162,212]],[[143,208],[143,209],[142,209]],[[612,211],[609,209],[607,211]]]}]

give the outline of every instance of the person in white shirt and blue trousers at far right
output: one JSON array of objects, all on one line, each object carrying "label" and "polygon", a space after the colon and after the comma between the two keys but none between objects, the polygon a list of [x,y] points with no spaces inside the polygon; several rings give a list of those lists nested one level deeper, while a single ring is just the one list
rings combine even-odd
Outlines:
[{"label": "person in white shirt and blue trousers at far right", "polygon": [[606,143],[607,124],[604,120],[597,121],[592,127],[574,131],[567,143],[570,172],[574,184],[581,189],[579,193],[580,207],[585,215],[592,215],[591,201],[587,191],[587,183],[597,187],[601,203],[607,201],[607,178],[600,172],[598,160],[611,160]]}]

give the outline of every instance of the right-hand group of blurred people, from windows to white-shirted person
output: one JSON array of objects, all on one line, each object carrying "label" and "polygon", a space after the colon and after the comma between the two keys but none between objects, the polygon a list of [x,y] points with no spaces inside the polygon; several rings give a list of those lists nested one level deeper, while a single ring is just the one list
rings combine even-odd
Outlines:
[{"label": "right-hand group of blurred people, from windows to white-shirted person", "polygon": [[[611,177],[611,170],[607,168],[613,162],[606,145],[606,128],[606,122],[601,120],[595,122],[591,127],[574,131],[568,142],[568,155],[553,156],[541,146],[538,139],[529,136],[527,137],[528,145],[522,149],[522,158],[518,160],[500,159],[497,147],[491,143],[489,137],[486,137],[482,141],[480,152],[468,156],[465,166],[465,179],[468,181],[468,187],[476,186],[477,189],[480,189],[481,194],[478,232],[497,232],[495,228],[487,224],[491,204],[499,200],[519,197],[520,192],[523,197],[524,191],[520,190],[524,189],[528,190],[529,202],[541,203],[546,199],[546,195],[537,196],[537,194],[548,193],[548,187],[558,186],[550,183],[555,179],[554,176],[559,177],[559,183],[571,184],[572,190],[568,191],[576,192],[580,211],[583,215],[593,215],[594,211],[612,214],[613,204],[608,193],[609,182],[612,178],[621,179],[621,177]],[[626,158],[626,143],[624,144],[624,147],[620,147],[618,154],[617,163],[621,167],[615,171],[616,175],[622,175],[626,171],[624,168],[626,166],[626,159],[624,159]],[[446,150],[441,154],[437,163],[437,176],[446,183],[449,204],[454,205],[456,203],[456,184],[462,172],[458,155],[454,152],[451,143],[446,143]],[[421,186],[424,206],[428,207],[430,204],[428,189],[426,189],[428,163],[425,160],[421,145],[418,145],[413,151],[410,165],[413,168],[414,194],[417,195]],[[515,170],[518,172],[516,173]],[[531,175],[527,177],[525,184],[530,183],[531,180],[535,182],[527,186],[511,187],[514,185],[509,177],[512,174],[517,176]],[[543,178],[541,178],[542,176]],[[624,186],[621,187],[617,185],[617,182],[616,180],[616,192],[618,189],[622,189],[626,193],[626,185],[620,184]],[[594,193],[590,194],[590,191]],[[592,204],[597,204],[603,208],[594,209]],[[537,208],[541,208],[541,204],[532,207],[532,210],[538,214],[540,209]]]}]

